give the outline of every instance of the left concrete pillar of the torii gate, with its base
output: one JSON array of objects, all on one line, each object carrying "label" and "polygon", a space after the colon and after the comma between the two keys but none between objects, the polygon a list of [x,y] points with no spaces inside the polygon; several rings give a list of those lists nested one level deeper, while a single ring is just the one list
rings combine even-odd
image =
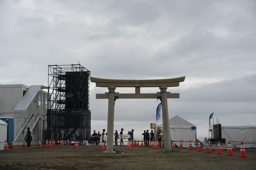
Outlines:
[{"label": "left concrete pillar of the torii gate, with its base", "polygon": [[107,150],[103,153],[116,153],[113,151],[115,89],[116,87],[108,87]]}]

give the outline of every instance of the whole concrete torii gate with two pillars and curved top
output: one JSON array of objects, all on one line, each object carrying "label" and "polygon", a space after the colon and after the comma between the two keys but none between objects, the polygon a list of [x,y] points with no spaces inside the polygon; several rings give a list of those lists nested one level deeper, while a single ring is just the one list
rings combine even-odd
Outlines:
[{"label": "whole concrete torii gate with two pillars and curved top", "polygon": [[[171,137],[169,129],[168,98],[180,98],[180,93],[166,92],[167,87],[177,87],[185,76],[158,80],[118,80],[90,77],[96,87],[108,87],[108,93],[96,94],[96,99],[108,99],[108,126],[107,126],[107,150],[104,153],[113,152],[114,132],[114,102],[116,99],[160,99],[162,102],[163,135],[165,138],[165,150],[171,150]],[[115,93],[116,87],[135,87],[135,93]],[[159,87],[157,93],[140,93],[140,87]]]}]

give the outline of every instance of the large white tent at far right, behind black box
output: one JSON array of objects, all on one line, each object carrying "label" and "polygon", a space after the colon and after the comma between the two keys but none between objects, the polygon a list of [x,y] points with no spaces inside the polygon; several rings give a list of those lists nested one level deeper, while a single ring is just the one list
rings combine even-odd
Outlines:
[{"label": "large white tent at far right, behind black box", "polygon": [[[226,141],[256,141],[256,114],[218,115],[215,124],[221,124],[221,137]],[[213,136],[214,137],[214,136]],[[244,144],[256,147],[256,144]]]}]

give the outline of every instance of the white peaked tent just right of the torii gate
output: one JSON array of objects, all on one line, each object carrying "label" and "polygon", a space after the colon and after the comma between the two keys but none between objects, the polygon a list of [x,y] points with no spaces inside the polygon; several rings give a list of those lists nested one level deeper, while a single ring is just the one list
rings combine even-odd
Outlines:
[{"label": "white peaked tent just right of the torii gate", "polygon": [[[160,126],[163,126],[160,125]],[[169,120],[171,140],[185,140],[195,141],[197,137],[197,126],[181,118],[180,116],[174,116]],[[177,146],[180,146],[180,142],[175,142]],[[183,142],[183,146],[188,147],[188,142]],[[194,146],[195,143],[192,143]]]}]

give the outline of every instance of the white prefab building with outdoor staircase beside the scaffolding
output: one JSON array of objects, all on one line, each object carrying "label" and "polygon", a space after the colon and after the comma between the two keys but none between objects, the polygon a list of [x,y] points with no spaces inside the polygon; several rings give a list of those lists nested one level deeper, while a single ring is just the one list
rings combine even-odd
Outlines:
[{"label": "white prefab building with outdoor staircase beside the scaffolding", "polygon": [[[0,85],[0,117],[14,117],[14,140],[17,145],[23,143],[27,127],[30,128],[33,140],[44,139],[46,136],[48,92],[43,89],[47,87]],[[31,144],[37,142],[32,141]]]}]

